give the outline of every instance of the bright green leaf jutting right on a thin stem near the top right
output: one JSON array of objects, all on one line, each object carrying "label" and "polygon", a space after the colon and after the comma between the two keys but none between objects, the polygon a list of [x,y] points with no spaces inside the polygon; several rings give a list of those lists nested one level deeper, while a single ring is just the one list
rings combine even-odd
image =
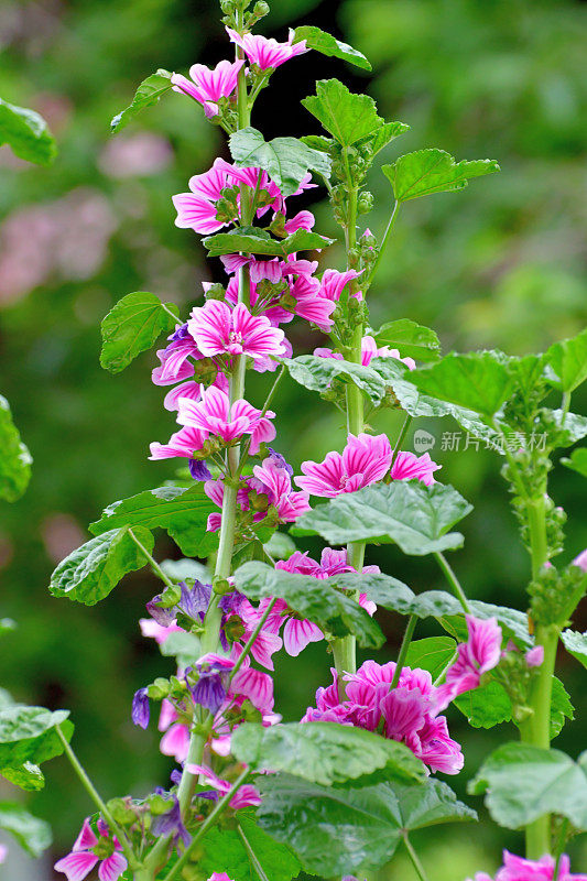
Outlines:
[{"label": "bright green leaf jutting right on a thin stem near the top right", "polygon": [[417,150],[400,156],[393,165],[383,165],[382,172],[391,181],[398,202],[407,202],[433,193],[463,189],[468,180],[499,172],[494,160],[455,162],[444,150]]}]

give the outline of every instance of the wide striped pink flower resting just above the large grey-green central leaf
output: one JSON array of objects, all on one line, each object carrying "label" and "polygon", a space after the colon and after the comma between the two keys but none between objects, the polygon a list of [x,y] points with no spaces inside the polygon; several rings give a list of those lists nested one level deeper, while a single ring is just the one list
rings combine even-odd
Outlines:
[{"label": "wide striped pink flower resting just above the large grey-green central leaf", "polygon": [[322,463],[304,461],[305,477],[294,478],[313,496],[334,498],[381,480],[389,471],[392,452],[387,435],[348,435],[343,454],[328,453]]}]

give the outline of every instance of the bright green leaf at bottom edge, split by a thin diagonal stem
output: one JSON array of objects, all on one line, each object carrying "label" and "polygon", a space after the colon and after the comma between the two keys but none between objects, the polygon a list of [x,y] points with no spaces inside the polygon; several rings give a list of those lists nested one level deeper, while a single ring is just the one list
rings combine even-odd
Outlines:
[{"label": "bright green leaf at bottom edge, split by a thin diagonal stem", "polygon": [[[302,866],[287,841],[280,844],[261,829],[254,812],[237,811],[235,818],[247,841],[271,881],[290,881],[297,878]],[[238,829],[213,827],[202,839],[198,869],[208,878],[214,872],[226,872],[231,881],[259,881]]]}]

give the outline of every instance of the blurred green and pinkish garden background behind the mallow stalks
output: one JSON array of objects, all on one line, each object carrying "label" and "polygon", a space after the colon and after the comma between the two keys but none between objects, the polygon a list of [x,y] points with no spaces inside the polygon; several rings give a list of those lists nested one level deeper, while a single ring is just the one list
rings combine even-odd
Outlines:
[{"label": "blurred green and pinkish garden background behind the mallow stalks", "polygon": [[[366,53],[370,80],[343,63],[315,54],[294,59],[263,93],[253,123],[275,134],[316,132],[298,106],[313,80],[339,76],[368,88],[387,119],[411,131],[381,154],[439,146],[457,159],[496,159],[500,175],[460,194],[404,207],[371,294],[372,320],[409,316],[439,333],[445,349],[502,347],[540,350],[585,325],[581,281],[585,242],[584,6],[577,0],[280,0],[267,32],[313,23],[344,35]],[[273,30],[272,30],[273,29]],[[132,726],[137,687],[171,668],[140,637],[137,619],[156,584],[130,576],[93,610],[47,592],[55,562],[86,537],[85,526],[109,502],[157,486],[173,464],[149,463],[148,443],[165,439],[173,418],[150,382],[154,354],[112,377],[98,363],[99,322],[130,291],[153,291],[180,305],[199,296],[200,282],[221,279],[206,267],[197,237],[173,226],[173,193],[225,150],[217,129],[178,95],[167,96],[117,138],[110,118],[129,104],[137,84],[157,67],[185,72],[215,64],[227,52],[217,3],[180,0],[58,0],[13,2],[0,9],[0,94],[33,107],[59,144],[51,170],[39,170],[0,150],[1,392],[9,399],[35,463],[30,489],[0,513],[0,614],[19,621],[3,639],[0,683],[19,699],[73,710],[75,743],[107,796],[142,794],[164,783],[171,765],[157,753],[154,726]],[[583,116],[583,119],[581,119]],[[390,210],[389,184],[372,174],[377,207],[365,219],[381,235]],[[337,235],[327,205],[313,206],[319,231]],[[336,246],[323,261],[340,265]],[[326,265],[326,262],[324,262]],[[291,326],[290,326],[291,327]],[[319,337],[291,327],[296,351]],[[251,400],[267,380],[253,378]],[[317,459],[343,442],[337,412],[293,383],[283,383],[279,446],[294,465]],[[585,398],[574,409],[585,412]],[[398,429],[385,415],[379,429]],[[442,479],[453,482],[476,512],[465,521],[466,546],[454,565],[476,598],[523,607],[528,562],[508,509],[499,458],[475,448],[443,450],[447,420],[422,427],[436,437]],[[411,436],[410,436],[411,440]],[[556,500],[569,514],[570,558],[587,545],[581,478],[559,469]],[[307,545],[317,551],[317,544]],[[157,555],[176,555],[161,537]],[[427,559],[376,550],[369,561],[413,589],[437,587]],[[576,629],[585,629],[584,620]],[[383,616],[394,656],[401,621]],[[431,631],[432,632],[432,631]],[[422,627],[420,635],[427,635]],[[561,735],[576,753],[585,743],[585,688],[580,671],[562,656],[563,677],[583,715]],[[284,656],[276,705],[298,718],[328,677],[323,645],[300,659]],[[463,782],[496,738],[512,731],[468,731],[453,716],[452,732],[468,744]],[[47,766],[47,788],[34,811],[51,818],[57,849],[68,845],[87,813],[65,761]],[[58,812],[55,811],[58,805]],[[506,844],[519,847],[515,835]],[[415,837],[416,844],[417,837]],[[458,842],[459,863],[456,863]],[[443,830],[422,838],[423,860],[436,881],[458,881],[497,866],[494,828]],[[378,881],[411,877],[398,861]],[[576,864],[575,871],[580,871]]]}]

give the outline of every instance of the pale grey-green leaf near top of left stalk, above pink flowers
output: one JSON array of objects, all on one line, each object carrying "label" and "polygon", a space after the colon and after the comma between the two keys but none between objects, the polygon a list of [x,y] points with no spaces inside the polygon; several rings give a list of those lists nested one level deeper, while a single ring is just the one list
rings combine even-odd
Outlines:
[{"label": "pale grey-green leaf near top of left stalk, above pink flowers", "polygon": [[309,171],[330,176],[330,157],[297,138],[265,141],[258,129],[249,126],[230,135],[229,146],[237,166],[264,168],[284,196],[292,196]]}]

